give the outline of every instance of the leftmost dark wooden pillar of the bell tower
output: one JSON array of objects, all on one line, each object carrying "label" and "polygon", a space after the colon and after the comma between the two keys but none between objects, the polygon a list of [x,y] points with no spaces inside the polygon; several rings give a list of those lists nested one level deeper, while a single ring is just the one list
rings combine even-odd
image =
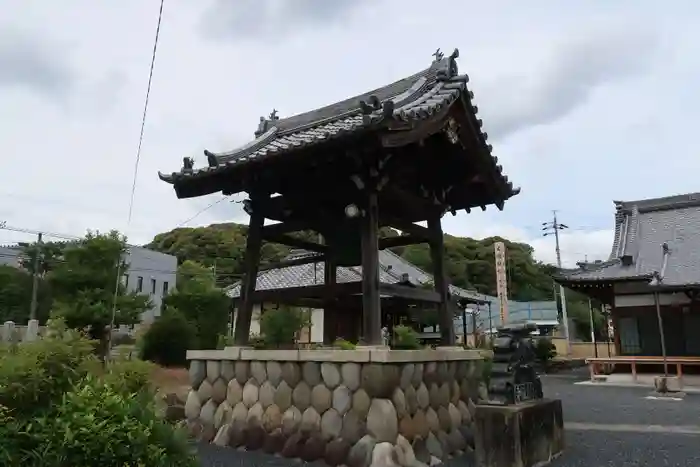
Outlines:
[{"label": "leftmost dark wooden pillar of the bell tower", "polygon": [[[250,337],[250,321],[253,317],[253,294],[258,278],[260,265],[260,247],[262,246],[262,228],[265,217],[258,210],[253,210],[248,225],[248,240],[246,241],[244,271],[241,280],[241,301],[236,314],[236,329],[233,342],[235,345],[248,345]],[[262,311],[262,309],[261,309]]]}]

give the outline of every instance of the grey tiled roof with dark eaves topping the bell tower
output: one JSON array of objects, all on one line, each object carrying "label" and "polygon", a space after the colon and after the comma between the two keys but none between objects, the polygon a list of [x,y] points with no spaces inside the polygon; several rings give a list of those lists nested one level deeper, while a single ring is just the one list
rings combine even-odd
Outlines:
[{"label": "grey tiled roof with dark eaves topping the bell tower", "polygon": [[[283,200],[270,211],[303,209],[302,198],[334,208],[353,202],[357,178],[383,177],[383,206],[412,204],[406,219],[424,220],[436,206],[446,211],[503,208],[519,193],[487,143],[482,121],[457,71],[455,51],[408,78],[311,112],[261,118],[256,137],[237,149],[205,151],[208,166],[160,173],[179,198],[221,192],[265,191]],[[356,177],[356,175],[360,175]],[[331,195],[331,193],[334,193]],[[432,206],[432,208],[431,208]],[[438,208],[435,208],[438,209]]]}]

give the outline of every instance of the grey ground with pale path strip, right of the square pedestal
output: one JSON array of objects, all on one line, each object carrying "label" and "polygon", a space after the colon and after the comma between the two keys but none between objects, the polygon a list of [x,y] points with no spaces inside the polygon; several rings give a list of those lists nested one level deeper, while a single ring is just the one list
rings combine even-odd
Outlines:
[{"label": "grey ground with pale path strip, right of the square pedestal", "polygon": [[556,467],[700,465],[700,395],[648,399],[650,390],[593,387],[544,377],[547,397],[562,399],[566,451]]}]

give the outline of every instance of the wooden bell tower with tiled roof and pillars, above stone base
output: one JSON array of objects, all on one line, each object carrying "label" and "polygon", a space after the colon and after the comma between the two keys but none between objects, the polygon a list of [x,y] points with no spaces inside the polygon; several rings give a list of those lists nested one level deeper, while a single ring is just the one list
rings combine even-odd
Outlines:
[{"label": "wooden bell tower with tiled roof and pillars, above stone base", "polygon": [[[248,342],[260,303],[323,308],[328,337],[343,329],[369,346],[382,344],[383,311],[429,304],[439,316],[442,345],[454,345],[458,297],[445,274],[441,219],[490,205],[503,209],[519,193],[487,143],[458,56],[456,49],[450,55],[438,50],[430,66],[412,76],[300,115],[280,118],[273,110],[260,118],[251,142],[205,151],[207,167],[195,168],[186,157],[179,171],[159,174],[179,198],[248,195],[237,345]],[[385,226],[402,235],[379,238]],[[294,236],[300,231],[323,241]],[[316,253],[278,267],[322,261],[323,282],[261,289],[263,241]],[[432,290],[397,281],[380,267],[381,250],[416,243],[430,246]],[[361,278],[347,281],[354,266],[361,266]]]}]

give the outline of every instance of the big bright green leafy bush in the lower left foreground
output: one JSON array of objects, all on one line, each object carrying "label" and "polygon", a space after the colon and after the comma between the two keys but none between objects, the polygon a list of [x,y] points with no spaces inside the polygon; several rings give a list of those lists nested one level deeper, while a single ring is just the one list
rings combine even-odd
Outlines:
[{"label": "big bright green leafy bush in the lower left foreground", "polygon": [[156,415],[152,364],[104,368],[79,333],[53,323],[47,334],[0,349],[0,465],[196,465],[183,433]]}]

